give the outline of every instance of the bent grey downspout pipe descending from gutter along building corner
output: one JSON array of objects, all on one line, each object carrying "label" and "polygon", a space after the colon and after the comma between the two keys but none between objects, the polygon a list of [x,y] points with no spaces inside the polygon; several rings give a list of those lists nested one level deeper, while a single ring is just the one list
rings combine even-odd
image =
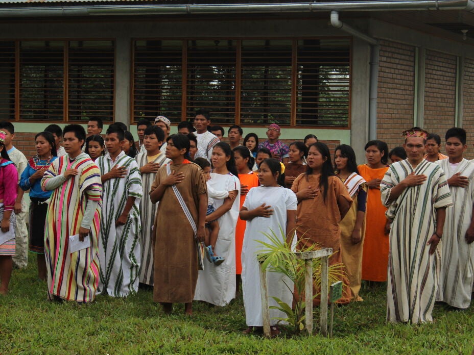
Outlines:
[{"label": "bent grey downspout pipe descending from gutter along building corner", "polygon": [[350,27],[339,19],[338,11],[331,11],[331,25],[341,29],[352,36],[358,37],[370,44],[370,83],[369,83],[369,140],[377,137],[377,90],[378,90],[378,58],[380,56],[380,44],[375,38]]}]

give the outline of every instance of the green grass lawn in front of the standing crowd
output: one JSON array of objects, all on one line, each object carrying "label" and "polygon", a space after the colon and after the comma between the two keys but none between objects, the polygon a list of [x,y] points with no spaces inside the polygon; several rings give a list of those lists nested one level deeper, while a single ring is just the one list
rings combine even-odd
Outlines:
[{"label": "green grass lawn in front of the standing crowd", "polygon": [[[282,333],[276,339],[242,334],[242,299],[227,307],[195,303],[194,316],[176,305],[166,316],[151,291],[126,299],[99,296],[92,305],[46,301],[36,260],[14,270],[0,297],[0,354],[471,354],[474,310],[436,305],[435,322],[385,323],[386,288],[363,289],[364,302],[337,307],[332,339]],[[315,323],[318,323],[315,319]]]}]

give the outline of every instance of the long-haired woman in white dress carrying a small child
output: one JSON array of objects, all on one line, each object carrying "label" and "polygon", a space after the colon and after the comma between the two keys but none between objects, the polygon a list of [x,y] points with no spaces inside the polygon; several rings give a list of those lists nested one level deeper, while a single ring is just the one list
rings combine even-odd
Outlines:
[{"label": "long-haired woman in white dress carrying a small child", "polygon": [[230,145],[217,143],[212,149],[209,185],[215,190],[229,191],[229,197],[214,199],[215,211],[206,216],[206,222],[219,220],[216,255],[225,259],[219,267],[205,267],[199,271],[194,299],[216,306],[225,306],[235,298],[235,225],[239,217],[240,181]]}]

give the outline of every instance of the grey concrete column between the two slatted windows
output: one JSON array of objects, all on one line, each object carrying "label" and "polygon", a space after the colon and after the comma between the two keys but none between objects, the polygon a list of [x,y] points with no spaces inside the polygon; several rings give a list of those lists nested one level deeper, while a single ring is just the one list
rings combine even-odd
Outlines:
[{"label": "grey concrete column between the two slatted windows", "polygon": [[132,50],[128,36],[117,36],[115,40],[115,122],[130,126],[130,90]]}]

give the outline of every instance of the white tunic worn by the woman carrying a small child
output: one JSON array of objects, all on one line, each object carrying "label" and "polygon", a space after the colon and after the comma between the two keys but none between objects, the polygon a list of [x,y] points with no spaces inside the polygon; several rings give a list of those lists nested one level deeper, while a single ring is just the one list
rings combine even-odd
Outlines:
[{"label": "white tunic worn by the woman carrying a small child", "polygon": [[[239,178],[232,174],[211,173],[209,185],[216,190],[238,190]],[[235,225],[239,217],[239,198],[235,198],[232,208],[219,218],[219,236],[216,243],[216,255],[225,261],[221,265],[205,262],[204,270],[199,271],[195,300],[206,301],[216,306],[225,306],[235,297]],[[223,199],[214,200],[217,210],[224,203]]]}]

